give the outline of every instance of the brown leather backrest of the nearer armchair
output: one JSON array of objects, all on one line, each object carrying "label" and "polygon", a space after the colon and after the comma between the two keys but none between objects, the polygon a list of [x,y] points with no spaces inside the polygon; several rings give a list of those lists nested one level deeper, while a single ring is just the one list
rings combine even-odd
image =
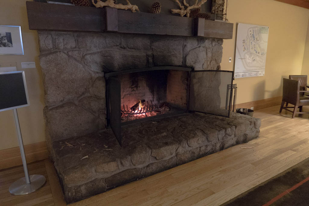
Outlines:
[{"label": "brown leather backrest of the nearer armchair", "polygon": [[293,105],[298,105],[299,82],[297,80],[283,78],[282,101]]}]

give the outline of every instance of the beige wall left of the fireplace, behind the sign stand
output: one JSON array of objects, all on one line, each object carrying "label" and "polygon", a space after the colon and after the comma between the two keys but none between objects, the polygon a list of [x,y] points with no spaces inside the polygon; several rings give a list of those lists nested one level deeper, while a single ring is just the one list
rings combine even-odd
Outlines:
[{"label": "beige wall left of the fireplace, behind the sign stand", "polygon": [[[24,55],[0,55],[0,65],[16,62],[17,70],[21,71],[21,62],[36,62],[36,68],[24,69],[30,106],[17,109],[23,143],[44,141],[44,90],[38,59],[38,37],[36,31],[28,29],[26,0],[1,0],[0,19],[1,25],[21,26],[24,49]],[[0,112],[0,150],[18,146],[13,111]]]}]

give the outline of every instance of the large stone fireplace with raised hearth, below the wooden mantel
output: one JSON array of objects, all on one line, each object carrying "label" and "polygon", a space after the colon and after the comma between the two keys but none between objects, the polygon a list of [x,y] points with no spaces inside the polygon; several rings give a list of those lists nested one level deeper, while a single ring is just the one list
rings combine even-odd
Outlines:
[{"label": "large stone fireplace with raised hearth, below the wooden mantel", "polygon": [[[67,203],[258,137],[259,119],[234,113],[221,117],[229,114],[222,95],[224,75],[197,72],[220,70],[222,39],[38,34],[47,143]],[[111,100],[116,98],[111,90],[118,91],[120,107]],[[134,107],[138,103],[153,115]],[[117,120],[112,119],[113,107],[121,116]],[[135,123],[140,118],[125,115],[132,107],[142,117],[178,113]],[[189,109],[221,116],[185,113]],[[122,124],[121,146],[115,121]]]}]

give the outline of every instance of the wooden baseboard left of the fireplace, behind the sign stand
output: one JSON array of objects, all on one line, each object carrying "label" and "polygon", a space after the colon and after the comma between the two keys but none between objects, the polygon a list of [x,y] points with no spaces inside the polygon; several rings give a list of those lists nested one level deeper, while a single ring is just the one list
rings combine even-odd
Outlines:
[{"label": "wooden baseboard left of the fireplace, behind the sign stand", "polygon": [[[24,150],[27,163],[44,160],[49,156],[46,141],[24,145]],[[0,150],[0,170],[22,164],[19,147]]]}]

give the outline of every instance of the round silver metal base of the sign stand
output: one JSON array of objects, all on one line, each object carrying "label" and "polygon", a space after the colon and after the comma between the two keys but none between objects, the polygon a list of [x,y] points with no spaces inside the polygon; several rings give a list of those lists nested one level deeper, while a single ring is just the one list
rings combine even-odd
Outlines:
[{"label": "round silver metal base of the sign stand", "polygon": [[27,184],[26,178],[20,178],[11,184],[9,191],[12,195],[27,195],[40,189],[46,182],[46,178],[40,174],[30,175],[30,183]]}]

